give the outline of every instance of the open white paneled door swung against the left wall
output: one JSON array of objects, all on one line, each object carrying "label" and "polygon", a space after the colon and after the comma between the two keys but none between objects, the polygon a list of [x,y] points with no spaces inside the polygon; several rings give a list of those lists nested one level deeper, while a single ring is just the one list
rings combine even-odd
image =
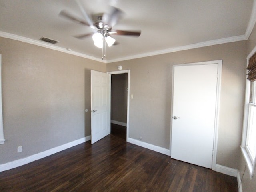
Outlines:
[{"label": "open white paneled door swung against the left wall", "polygon": [[110,134],[110,74],[91,70],[91,144]]}]

